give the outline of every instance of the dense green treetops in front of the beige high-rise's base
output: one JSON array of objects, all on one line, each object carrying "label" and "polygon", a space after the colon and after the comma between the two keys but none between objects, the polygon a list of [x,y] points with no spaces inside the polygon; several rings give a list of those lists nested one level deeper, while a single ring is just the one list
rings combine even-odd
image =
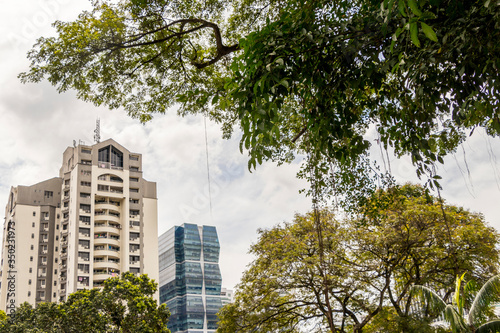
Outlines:
[{"label": "dense green treetops in front of the beige high-rise's base", "polygon": [[164,332],[170,313],[158,306],[157,285],[147,275],[122,273],[104,281],[102,289],[84,289],[61,303],[24,303],[0,322],[2,332]]}]

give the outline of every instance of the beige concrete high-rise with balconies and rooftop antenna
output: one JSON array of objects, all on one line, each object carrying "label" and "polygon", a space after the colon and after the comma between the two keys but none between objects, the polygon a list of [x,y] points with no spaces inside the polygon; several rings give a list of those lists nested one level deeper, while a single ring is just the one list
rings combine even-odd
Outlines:
[{"label": "beige concrete high-rise with balconies and rooftop antenna", "polygon": [[158,280],[156,183],[114,140],[68,147],[59,177],[12,187],[0,309],[59,301],[130,271]]}]

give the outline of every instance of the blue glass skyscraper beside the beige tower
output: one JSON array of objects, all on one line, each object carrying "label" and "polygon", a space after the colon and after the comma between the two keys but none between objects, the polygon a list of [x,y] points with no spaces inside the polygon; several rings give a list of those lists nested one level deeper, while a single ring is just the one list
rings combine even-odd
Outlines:
[{"label": "blue glass skyscraper beside the beige tower", "polygon": [[171,312],[168,328],[172,333],[215,332],[225,297],[215,227],[185,223],[165,232],[158,243],[160,303]]}]

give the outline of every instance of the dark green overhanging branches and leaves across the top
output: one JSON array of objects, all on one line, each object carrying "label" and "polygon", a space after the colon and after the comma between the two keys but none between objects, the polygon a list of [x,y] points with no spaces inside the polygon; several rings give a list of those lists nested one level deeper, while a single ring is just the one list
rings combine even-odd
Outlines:
[{"label": "dark green overhanging branches and leaves across the top", "polygon": [[22,81],[142,121],[177,103],[239,126],[250,168],[307,154],[326,189],[351,184],[369,127],[438,187],[466,134],[500,132],[498,0],[96,0],[54,26]]}]

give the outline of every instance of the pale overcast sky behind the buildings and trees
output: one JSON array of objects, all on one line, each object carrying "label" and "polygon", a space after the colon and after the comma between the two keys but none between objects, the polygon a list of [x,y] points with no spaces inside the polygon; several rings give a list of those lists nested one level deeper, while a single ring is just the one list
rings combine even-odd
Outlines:
[{"label": "pale overcast sky behind the buildings and trees", "polygon": [[[210,212],[202,117],[180,118],[172,111],[142,125],[123,111],[79,101],[73,92],[60,95],[46,82],[21,84],[17,74],[27,70],[26,52],[36,38],[53,34],[51,22],[74,19],[89,8],[89,3],[2,2],[0,205],[7,203],[10,186],[32,185],[58,176],[62,153],[73,140],[93,144],[99,117],[102,140],[113,138],[130,151],[143,154],[144,178],[157,182],[159,234],[185,222],[217,227],[223,285],[232,288],[251,260],[247,251],[257,240],[257,229],[289,221],[295,213],[310,209],[310,200],[299,194],[306,184],[295,178],[301,161],[280,167],[266,163],[249,173],[237,138],[223,140],[218,126],[208,122]],[[379,151],[373,149],[373,154],[377,157]],[[390,158],[398,181],[418,181],[408,159]],[[441,167],[443,197],[451,204],[484,213],[499,229],[500,140],[476,130],[445,161]]]}]

